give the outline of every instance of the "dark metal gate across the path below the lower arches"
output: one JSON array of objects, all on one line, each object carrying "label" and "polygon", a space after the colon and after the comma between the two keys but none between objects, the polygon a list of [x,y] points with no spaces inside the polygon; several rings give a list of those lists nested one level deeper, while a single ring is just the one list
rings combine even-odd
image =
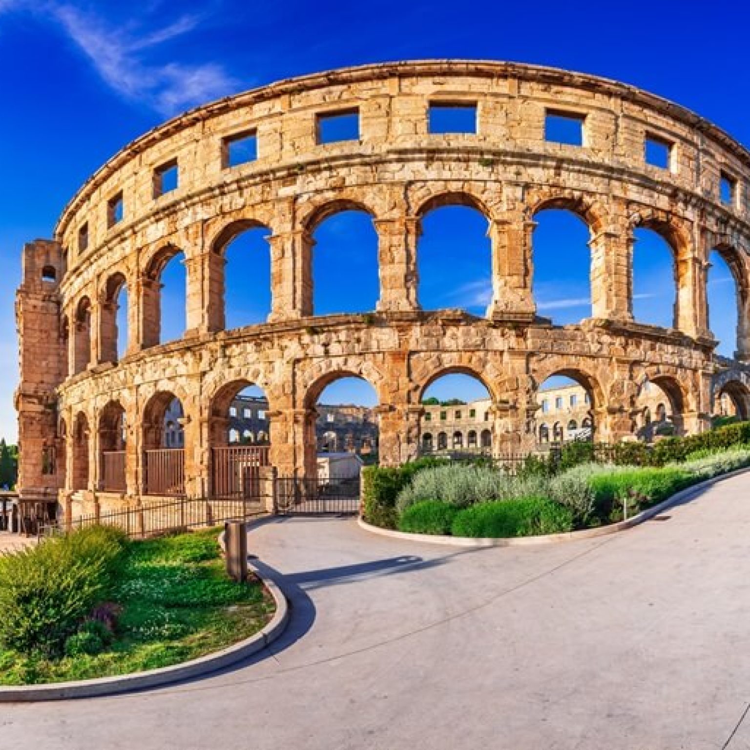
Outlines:
[{"label": "dark metal gate across the path below the lower arches", "polygon": [[279,477],[276,511],[282,514],[355,514],[359,476],[346,479]]}]

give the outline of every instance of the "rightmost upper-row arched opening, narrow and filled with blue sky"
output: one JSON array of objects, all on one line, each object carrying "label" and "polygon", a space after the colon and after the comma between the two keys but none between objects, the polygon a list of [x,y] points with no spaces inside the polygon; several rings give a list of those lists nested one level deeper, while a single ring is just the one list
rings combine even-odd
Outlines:
[{"label": "rightmost upper-row arched opening, narrow and filled with blue sky", "polygon": [[706,280],[708,327],[718,341],[715,353],[733,358],[742,350],[742,311],[747,290],[741,271],[741,261],[729,249],[714,250],[709,255]]}]

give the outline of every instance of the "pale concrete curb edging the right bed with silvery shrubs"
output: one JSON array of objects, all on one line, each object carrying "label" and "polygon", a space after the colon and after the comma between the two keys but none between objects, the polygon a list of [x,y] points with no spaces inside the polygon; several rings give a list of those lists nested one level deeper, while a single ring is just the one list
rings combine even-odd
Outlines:
[{"label": "pale concrete curb edging the right bed with silvery shrubs", "polygon": [[533,544],[555,544],[560,541],[576,541],[577,539],[590,539],[597,536],[606,536],[608,534],[616,534],[619,531],[625,531],[625,529],[631,529],[633,526],[643,523],[644,520],[649,520],[649,518],[658,515],[661,511],[666,510],[671,505],[676,505],[678,502],[682,502],[682,500],[690,499],[692,496],[700,493],[707,487],[711,487],[719,481],[732,478],[733,476],[748,471],[750,471],[750,466],[745,466],[743,469],[735,469],[727,474],[715,476],[712,479],[706,479],[706,481],[693,484],[691,487],[686,487],[684,490],[680,490],[673,494],[658,505],[654,505],[652,508],[648,508],[648,510],[634,515],[632,518],[628,518],[628,520],[610,523],[609,526],[597,526],[595,529],[581,529],[580,531],[568,531],[562,534],[517,536],[508,538],[473,538],[470,536],[447,536],[439,534],[410,534],[404,531],[382,529],[380,526],[373,526],[371,523],[363,520],[362,517],[359,517],[357,522],[362,529],[373,534],[380,534],[381,536],[389,536],[394,539],[404,539],[408,541],[424,541],[428,544],[447,544],[452,547],[528,547]]}]

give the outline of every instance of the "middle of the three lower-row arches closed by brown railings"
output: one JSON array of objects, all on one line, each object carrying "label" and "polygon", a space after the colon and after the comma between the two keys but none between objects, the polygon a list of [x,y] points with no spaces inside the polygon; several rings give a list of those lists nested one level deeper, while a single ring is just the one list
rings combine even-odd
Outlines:
[{"label": "middle of the three lower-row arches closed by brown railings", "polygon": [[184,495],[184,424],[182,402],[171,392],[152,396],[143,414],[143,493]]}]

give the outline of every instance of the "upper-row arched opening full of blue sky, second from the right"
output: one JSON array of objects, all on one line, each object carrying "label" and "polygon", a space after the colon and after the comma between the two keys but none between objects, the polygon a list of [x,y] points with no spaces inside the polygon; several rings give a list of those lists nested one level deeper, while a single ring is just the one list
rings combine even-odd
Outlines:
[{"label": "upper-row arched opening full of blue sky, second from the right", "polygon": [[633,317],[638,323],[676,328],[677,266],[675,250],[655,229],[633,233]]}]

